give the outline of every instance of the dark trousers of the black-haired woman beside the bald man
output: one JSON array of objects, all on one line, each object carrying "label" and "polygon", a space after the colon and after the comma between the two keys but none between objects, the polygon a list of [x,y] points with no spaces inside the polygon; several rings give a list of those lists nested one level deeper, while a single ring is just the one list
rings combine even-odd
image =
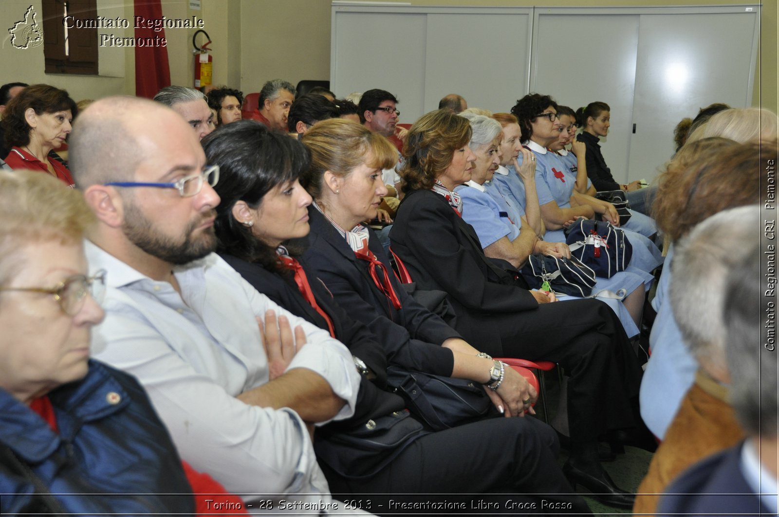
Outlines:
[{"label": "dark trousers of the black-haired woman beside the bald man", "polygon": [[[372,477],[347,479],[320,464],[330,491],[354,494],[353,498],[358,494],[527,494],[533,496],[530,500],[538,499],[536,508],[541,509],[541,495],[534,494],[547,494],[547,501],[570,503],[574,510],[589,512],[562,475],[558,452],[552,427],[532,417],[496,417],[426,434]],[[506,496],[492,498],[504,500]]]}]

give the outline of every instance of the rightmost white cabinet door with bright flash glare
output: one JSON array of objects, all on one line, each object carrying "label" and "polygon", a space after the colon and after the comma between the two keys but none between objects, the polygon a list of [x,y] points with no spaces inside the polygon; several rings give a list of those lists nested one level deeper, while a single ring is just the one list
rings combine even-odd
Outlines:
[{"label": "rightmost white cabinet door with bright flash glare", "polygon": [[732,9],[736,12],[641,15],[636,132],[624,181],[654,179],[675,151],[675,126],[694,118],[700,107],[751,104],[759,16],[746,7]]}]

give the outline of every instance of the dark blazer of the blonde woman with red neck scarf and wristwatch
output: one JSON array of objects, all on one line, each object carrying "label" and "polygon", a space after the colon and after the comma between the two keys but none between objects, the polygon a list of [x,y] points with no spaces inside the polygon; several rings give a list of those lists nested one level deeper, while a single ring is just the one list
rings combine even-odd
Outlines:
[{"label": "dark blazer of the blonde woman with red neck scarf and wristwatch", "polygon": [[439,316],[409,296],[395,278],[378,237],[372,235],[368,248],[384,263],[400,304],[396,309],[375,286],[368,262],[357,259],[349,244],[314,206],[308,207],[308,249],[306,266],[318,276],[347,314],[379,336],[391,364],[436,375],[452,375],[454,356],[441,343],[460,337]]}]

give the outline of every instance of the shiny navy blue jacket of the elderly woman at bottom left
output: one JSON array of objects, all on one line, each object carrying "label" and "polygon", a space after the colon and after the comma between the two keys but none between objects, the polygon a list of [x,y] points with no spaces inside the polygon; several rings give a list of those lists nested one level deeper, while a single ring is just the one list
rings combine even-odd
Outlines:
[{"label": "shiny navy blue jacket of the elderly woman at bottom left", "polygon": [[[0,511],[194,513],[182,460],[135,378],[90,360],[83,380],[48,396],[59,434],[0,389]],[[31,473],[55,501],[36,497]]]}]

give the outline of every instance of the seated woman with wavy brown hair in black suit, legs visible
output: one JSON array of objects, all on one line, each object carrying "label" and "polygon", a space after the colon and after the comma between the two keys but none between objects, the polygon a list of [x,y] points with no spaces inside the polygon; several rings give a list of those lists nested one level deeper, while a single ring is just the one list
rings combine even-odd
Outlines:
[{"label": "seated woman with wavy brown hair in black suit, legs visible", "polygon": [[602,501],[630,506],[633,496],[614,484],[598,460],[597,438],[638,424],[631,401],[641,375],[636,356],[608,305],[592,299],[550,303],[553,296],[523,288],[509,262],[485,256],[453,192],[471,180],[476,157],[470,139],[467,119],[447,110],[425,114],[411,126],[400,169],[406,196],[390,232],[392,248],[418,288],[446,292],[456,329],[474,346],[563,368],[569,375],[570,434],[563,471]]}]

